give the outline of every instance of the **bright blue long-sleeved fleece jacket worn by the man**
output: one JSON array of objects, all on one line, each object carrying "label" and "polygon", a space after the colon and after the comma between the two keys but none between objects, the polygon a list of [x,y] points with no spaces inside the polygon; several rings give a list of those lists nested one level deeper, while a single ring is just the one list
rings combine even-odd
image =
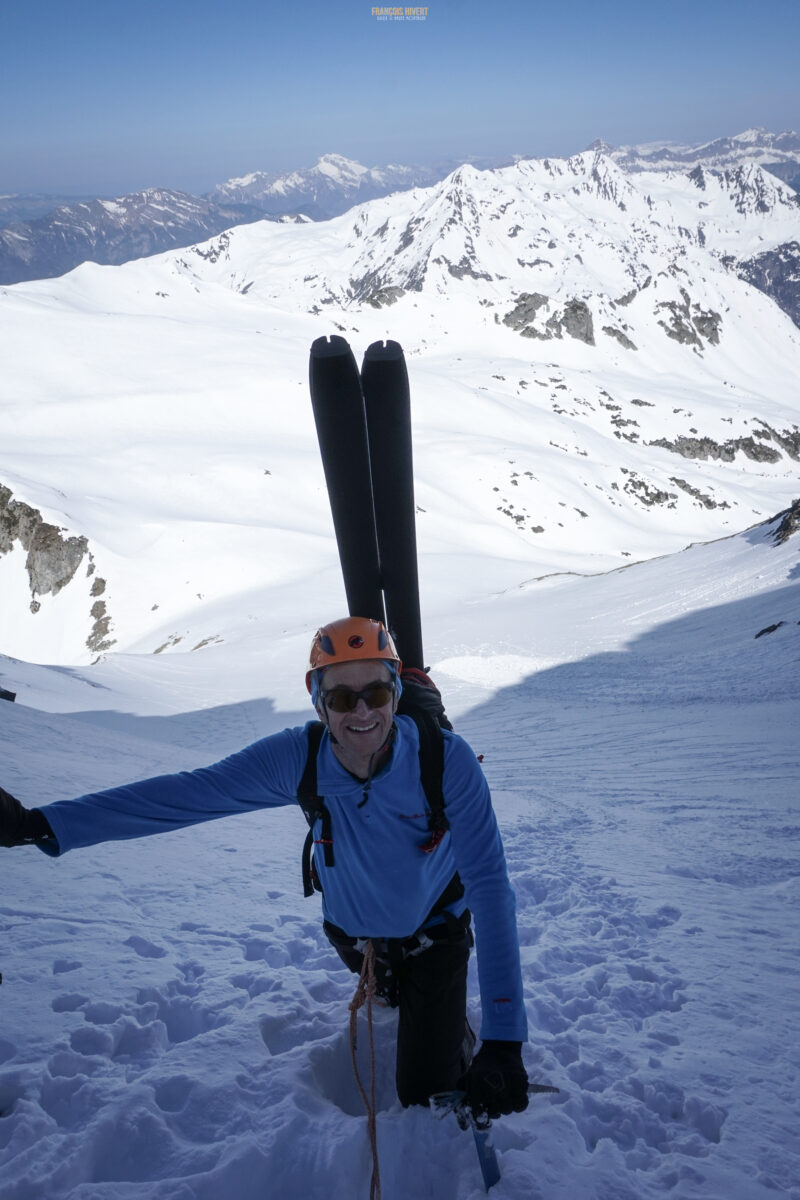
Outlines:
[{"label": "bright blue long-sleeved fleece jacket worn by the man", "polygon": [[[419,736],[408,716],[396,718],[396,725],[391,757],[368,788],[341,764],[327,731],[323,736],[318,791],[331,814],[335,845],[333,866],[315,856],[324,914],[350,936],[407,937],[457,870],[465,898],[451,907],[458,914],[469,906],[474,917],[481,1037],[524,1040],[515,899],[483,773],[463,738],[444,732],[450,832],[435,851],[423,853],[429,832]],[[294,804],[307,755],[308,726],[283,730],[211,767],[59,800],[42,809],[58,841],[48,852]]]}]

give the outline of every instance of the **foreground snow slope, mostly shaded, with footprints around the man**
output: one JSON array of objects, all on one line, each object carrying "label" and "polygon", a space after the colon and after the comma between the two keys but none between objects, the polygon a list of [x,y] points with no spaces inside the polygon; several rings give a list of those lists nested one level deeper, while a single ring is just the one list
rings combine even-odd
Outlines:
[{"label": "foreground snow slope, mostly shaded, with footprints around the man", "polygon": [[[799,572],[798,535],[757,527],[432,623],[517,892],[525,1062],[561,1088],[495,1123],[498,1200],[800,1195]],[[6,706],[4,784],[35,803],[206,762],[303,719],[273,707],[297,674],[173,715]],[[303,828],[5,854],[4,1200],[366,1198],[354,980],[301,896]],[[377,1043],[384,1196],[477,1200],[469,1136],[393,1098],[389,1012]]]}]

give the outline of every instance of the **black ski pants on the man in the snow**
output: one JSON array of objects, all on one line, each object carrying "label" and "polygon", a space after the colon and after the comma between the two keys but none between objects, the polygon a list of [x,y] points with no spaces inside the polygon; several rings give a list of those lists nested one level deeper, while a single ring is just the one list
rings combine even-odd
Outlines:
[{"label": "black ski pants on the man in the snow", "polygon": [[[361,972],[363,954],[355,938],[325,923],[342,961]],[[401,1104],[426,1104],[449,1092],[464,1074],[475,1042],[467,1022],[467,964],[473,934],[444,925],[427,931],[431,946],[404,953],[403,943],[373,938],[378,995],[398,1008],[396,1082]],[[337,936],[338,935],[338,936]],[[409,938],[414,943],[415,938]]]}]

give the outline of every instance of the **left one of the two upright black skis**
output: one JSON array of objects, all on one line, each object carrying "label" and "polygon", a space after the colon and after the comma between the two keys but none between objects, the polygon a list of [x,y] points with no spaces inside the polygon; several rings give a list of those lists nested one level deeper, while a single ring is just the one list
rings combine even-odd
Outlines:
[{"label": "left one of the two upright black skis", "polygon": [[361,379],[343,337],[318,337],[311,402],[351,617],[385,620]]}]

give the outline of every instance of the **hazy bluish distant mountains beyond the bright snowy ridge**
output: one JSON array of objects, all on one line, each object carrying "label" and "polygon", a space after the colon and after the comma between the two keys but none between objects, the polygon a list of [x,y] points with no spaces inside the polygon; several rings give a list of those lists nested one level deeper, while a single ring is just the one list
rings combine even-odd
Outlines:
[{"label": "hazy bluish distant mountains beyond the bright snowy ridge", "polygon": [[[688,175],[691,186],[699,190],[720,180],[745,206],[774,203],[772,178],[800,188],[800,137],[790,131],[747,130],[702,145],[614,148],[599,142],[589,149],[601,151],[626,174],[678,173],[684,180]],[[763,168],[758,175],[752,173],[753,164]],[[116,199],[61,204],[49,212],[42,212],[46,197],[4,197],[0,220],[8,215],[16,220],[0,228],[0,284],[64,275],[83,262],[119,264],[191,246],[233,226],[265,218],[327,220],[392,192],[431,187],[457,166],[363,167],[331,154],[314,167],[289,174],[254,172],[230,179],[205,197],[151,188]],[[506,164],[476,161],[473,166],[499,169]],[[26,203],[30,214],[37,215],[23,221],[19,217],[28,211]],[[732,241],[720,253],[800,325],[800,229],[780,245],[753,246],[745,252]]]}]

